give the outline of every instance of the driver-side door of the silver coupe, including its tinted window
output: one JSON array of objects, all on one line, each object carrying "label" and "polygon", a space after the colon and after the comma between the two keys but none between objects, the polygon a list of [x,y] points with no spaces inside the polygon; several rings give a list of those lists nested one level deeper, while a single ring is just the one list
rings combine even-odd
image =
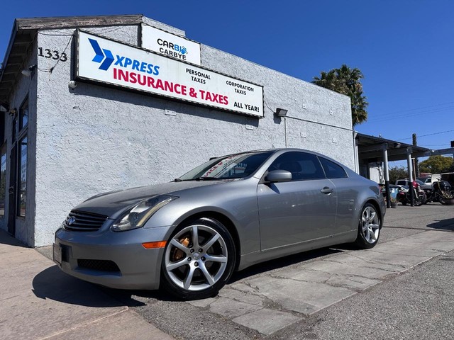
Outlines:
[{"label": "driver-side door of the silver coupe, including its tinted window", "polygon": [[292,181],[258,184],[261,249],[329,237],[336,223],[337,193],[319,159],[286,152],[268,171],[287,170]]}]

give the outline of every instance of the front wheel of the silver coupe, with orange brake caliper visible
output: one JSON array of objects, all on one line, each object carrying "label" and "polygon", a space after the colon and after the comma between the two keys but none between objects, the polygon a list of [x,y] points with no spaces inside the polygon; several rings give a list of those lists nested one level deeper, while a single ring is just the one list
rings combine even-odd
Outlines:
[{"label": "front wheel of the silver coupe, with orange brake caliper visible", "polygon": [[200,218],[173,232],[162,258],[160,284],[183,300],[213,297],[228,282],[235,263],[235,243],[227,228]]}]

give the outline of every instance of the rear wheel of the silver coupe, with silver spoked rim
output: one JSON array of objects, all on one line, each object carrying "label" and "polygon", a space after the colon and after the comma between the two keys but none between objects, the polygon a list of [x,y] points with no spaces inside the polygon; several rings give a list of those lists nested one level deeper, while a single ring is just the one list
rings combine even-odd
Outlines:
[{"label": "rear wheel of the silver coupe, with silver spoked rim", "polygon": [[358,222],[358,236],[356,237],[355,245],[360,249],[373,248],[378,242],[382,227],[380,214],[374,205],[366,203],[362,207]]}]

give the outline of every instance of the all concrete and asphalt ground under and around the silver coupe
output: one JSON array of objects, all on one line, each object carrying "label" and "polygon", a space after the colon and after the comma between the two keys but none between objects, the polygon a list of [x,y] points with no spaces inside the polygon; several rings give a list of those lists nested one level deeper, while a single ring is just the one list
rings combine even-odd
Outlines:
[{"label": "all concrete and asphalt ground under and around the silver coupe", "polygon": [[260,263],[193,302],[84,283],[0,232],[0,338],[453,339],[453,231],[452,206],[399,205],[374,249]]}]

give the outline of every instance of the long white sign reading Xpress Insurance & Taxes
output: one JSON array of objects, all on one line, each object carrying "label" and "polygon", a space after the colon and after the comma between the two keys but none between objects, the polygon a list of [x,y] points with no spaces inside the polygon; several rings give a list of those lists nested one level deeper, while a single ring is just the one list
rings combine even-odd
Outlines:
[{"label": "long white sign reading Xpress Insurance & Taxes", "polygon": [[77,30],[77,78],[263,117],[263,88]]}]

